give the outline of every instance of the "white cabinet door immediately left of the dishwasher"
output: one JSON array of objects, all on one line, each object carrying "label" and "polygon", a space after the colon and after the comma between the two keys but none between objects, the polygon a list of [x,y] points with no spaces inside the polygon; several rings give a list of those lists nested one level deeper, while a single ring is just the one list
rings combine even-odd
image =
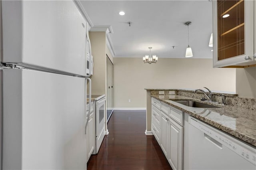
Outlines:
[{"label": "white cabinet door immediately left of the dishwasher", "polygon": [[173,170],[182,170],[183,165],[183,127],[170,119],[168,161]]}]

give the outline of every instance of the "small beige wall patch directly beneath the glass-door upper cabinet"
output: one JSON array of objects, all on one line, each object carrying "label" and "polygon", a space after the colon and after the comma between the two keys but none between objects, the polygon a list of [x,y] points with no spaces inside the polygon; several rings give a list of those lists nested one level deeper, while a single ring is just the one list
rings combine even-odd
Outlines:
[{"label": "small beige wall patch directly beneath the glass-door upper cabinet", "polygon": [[256,99],[256,67],[236,69],[236,93]]}]

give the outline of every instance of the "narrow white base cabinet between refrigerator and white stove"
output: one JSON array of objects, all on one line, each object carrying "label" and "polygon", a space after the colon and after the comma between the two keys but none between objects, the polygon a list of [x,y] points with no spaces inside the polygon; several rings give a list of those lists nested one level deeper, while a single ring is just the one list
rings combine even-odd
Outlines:
[{"label": "narrow white base cabinet between refrigerator and white stove", "polygon": [[[94,102],[91,102],[90,117],[88,125],[86,128],[86,142],[87,142],[87,161],[92,155],[93,150],[95,149],[95,116],[94,116]],[[87,104],[87,108],[89,105]],[[86,112],[86,117],[88,119],[88,111]]]}]

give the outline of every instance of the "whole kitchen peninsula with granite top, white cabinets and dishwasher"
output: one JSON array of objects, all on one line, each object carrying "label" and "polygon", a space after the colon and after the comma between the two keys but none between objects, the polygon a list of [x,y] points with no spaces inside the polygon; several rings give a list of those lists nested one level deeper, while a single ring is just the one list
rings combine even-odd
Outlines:
[{"label": "whole kitchen peninsula with granite top, white cabinets and dishwasher", "polygon": [[[146,91],[145,133],[155,136],[173,169],[255,169],[255,99],[212,93],[214,102],[209,102],[200,100],[206,94],[194,90]],[[221,104],[222,97],[227,105]],[[220,163],[216,165],[213,158]]]}]

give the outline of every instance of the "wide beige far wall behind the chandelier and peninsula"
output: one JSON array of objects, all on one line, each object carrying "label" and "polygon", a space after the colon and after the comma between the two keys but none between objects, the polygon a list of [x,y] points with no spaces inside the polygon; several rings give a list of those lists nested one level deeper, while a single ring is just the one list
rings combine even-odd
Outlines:
[{"label": "wide beige far wall behind the chandelier and peninsula", "polygon": [[160,58],[156,64],[144,64],[142,58],[114,57],[114,87],[114,108],[146,108],[144,88],[235,92],[236,69],[212,68],[212,59]]}]

